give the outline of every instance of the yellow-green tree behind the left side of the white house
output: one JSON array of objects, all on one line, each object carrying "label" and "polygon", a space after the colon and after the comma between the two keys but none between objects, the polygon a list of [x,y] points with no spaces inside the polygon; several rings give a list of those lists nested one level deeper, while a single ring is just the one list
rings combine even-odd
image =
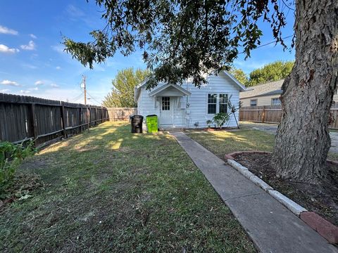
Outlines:
[{"label": "yellow-green tree behind the left side of the white house", "polygon": [[113,88],[104,98],[104,106],[114,108],[134,108],[134,87],[149,75],[149,70],[134,70],[132,67],[118,71],[113,79]]}]

